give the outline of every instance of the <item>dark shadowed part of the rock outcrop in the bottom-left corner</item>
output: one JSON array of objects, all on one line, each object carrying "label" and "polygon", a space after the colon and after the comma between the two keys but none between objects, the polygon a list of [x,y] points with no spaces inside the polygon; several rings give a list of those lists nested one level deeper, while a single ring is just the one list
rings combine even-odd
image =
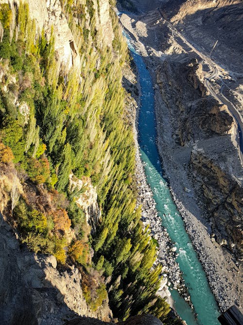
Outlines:
[{"label": "dark shadowed part of the rock outcrop in the bottom-left corner", "polygon": [[74,318],[82,325],[109,324],[73,312],[60,290],[46,280],[45,269],[53,268],[53,259],[21,246],[0,213],[1,325],[62,325]]}]

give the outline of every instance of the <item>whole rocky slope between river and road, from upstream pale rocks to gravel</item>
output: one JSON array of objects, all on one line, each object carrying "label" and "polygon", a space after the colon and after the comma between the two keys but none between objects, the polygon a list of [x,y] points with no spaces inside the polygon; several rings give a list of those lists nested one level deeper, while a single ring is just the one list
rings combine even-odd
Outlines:
[{"label": "whole rocky slope between river and road, from upstream pale rocks to gravel", "polygon": [[242,308],[242,166],[232,117],[204,85],[208,64],[158,10],[129,16],[121,22],[154,77],[158,149],[174,201],[220,308]]}]

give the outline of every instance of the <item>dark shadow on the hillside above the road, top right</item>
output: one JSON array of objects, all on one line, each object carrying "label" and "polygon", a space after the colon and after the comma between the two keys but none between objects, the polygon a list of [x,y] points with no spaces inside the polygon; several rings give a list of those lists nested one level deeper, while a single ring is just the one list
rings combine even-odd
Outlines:
[{"label": "dark shadow on the hillside above the road, top right", "polygon": [[[173,9],[174,12],[171,15],[169,13],[170,8],[166,6],[162,8],[165,18],[168,18],[166,16],[167,12],[169,13],[169,18],[178,14],[178,9],[179,7]],[[198,45],[204,46],[206,49],[206,51],[204,49],[204,52],[208,52],[209,55],[215,41],[218,40],[217,46],[212,53],[212,58],[219,65],[223,62],[229,69],[242,73],[243,3],[222,6],[219,3],[217,7],[198,9],[194,13],[185,16],[182,20],[183,24],[179,26],[183,29],[185,28],[185,30],[189,26],[189,35],[191,34],[193,40],[198,41]],[[181,21],[178,20],[176,22],[180,23]],[[193,26],[192,32],[191,26]],[[224,66],[222,67],[224,68]]]}]

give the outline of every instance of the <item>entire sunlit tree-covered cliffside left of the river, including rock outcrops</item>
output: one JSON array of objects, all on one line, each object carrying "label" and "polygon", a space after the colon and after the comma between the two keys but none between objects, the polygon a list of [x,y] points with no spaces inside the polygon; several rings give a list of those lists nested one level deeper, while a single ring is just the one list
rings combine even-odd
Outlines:
[{"label": "entire sunlit tree-covered cliffside left of the river, including rock outcrops", "polygon": [[0,208],[21,243],[4,224],[2,280],[16,275],[5,323],[170,311],[136,203],[127,44],[111,2],[0,1]]}]

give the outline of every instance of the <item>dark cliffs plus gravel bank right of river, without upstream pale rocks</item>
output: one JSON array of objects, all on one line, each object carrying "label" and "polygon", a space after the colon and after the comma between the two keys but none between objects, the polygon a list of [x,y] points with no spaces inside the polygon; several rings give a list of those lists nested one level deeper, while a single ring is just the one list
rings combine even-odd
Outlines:
[{"label": "dark cliffs plus gravel bank right of river, without upstream pale rocks", "polygon": [[242,304],[242,167],[232,118],[205,92],[198,72],[195,62],[172,61],[157,71],[159,150],[209,284],[226,309]]}]

